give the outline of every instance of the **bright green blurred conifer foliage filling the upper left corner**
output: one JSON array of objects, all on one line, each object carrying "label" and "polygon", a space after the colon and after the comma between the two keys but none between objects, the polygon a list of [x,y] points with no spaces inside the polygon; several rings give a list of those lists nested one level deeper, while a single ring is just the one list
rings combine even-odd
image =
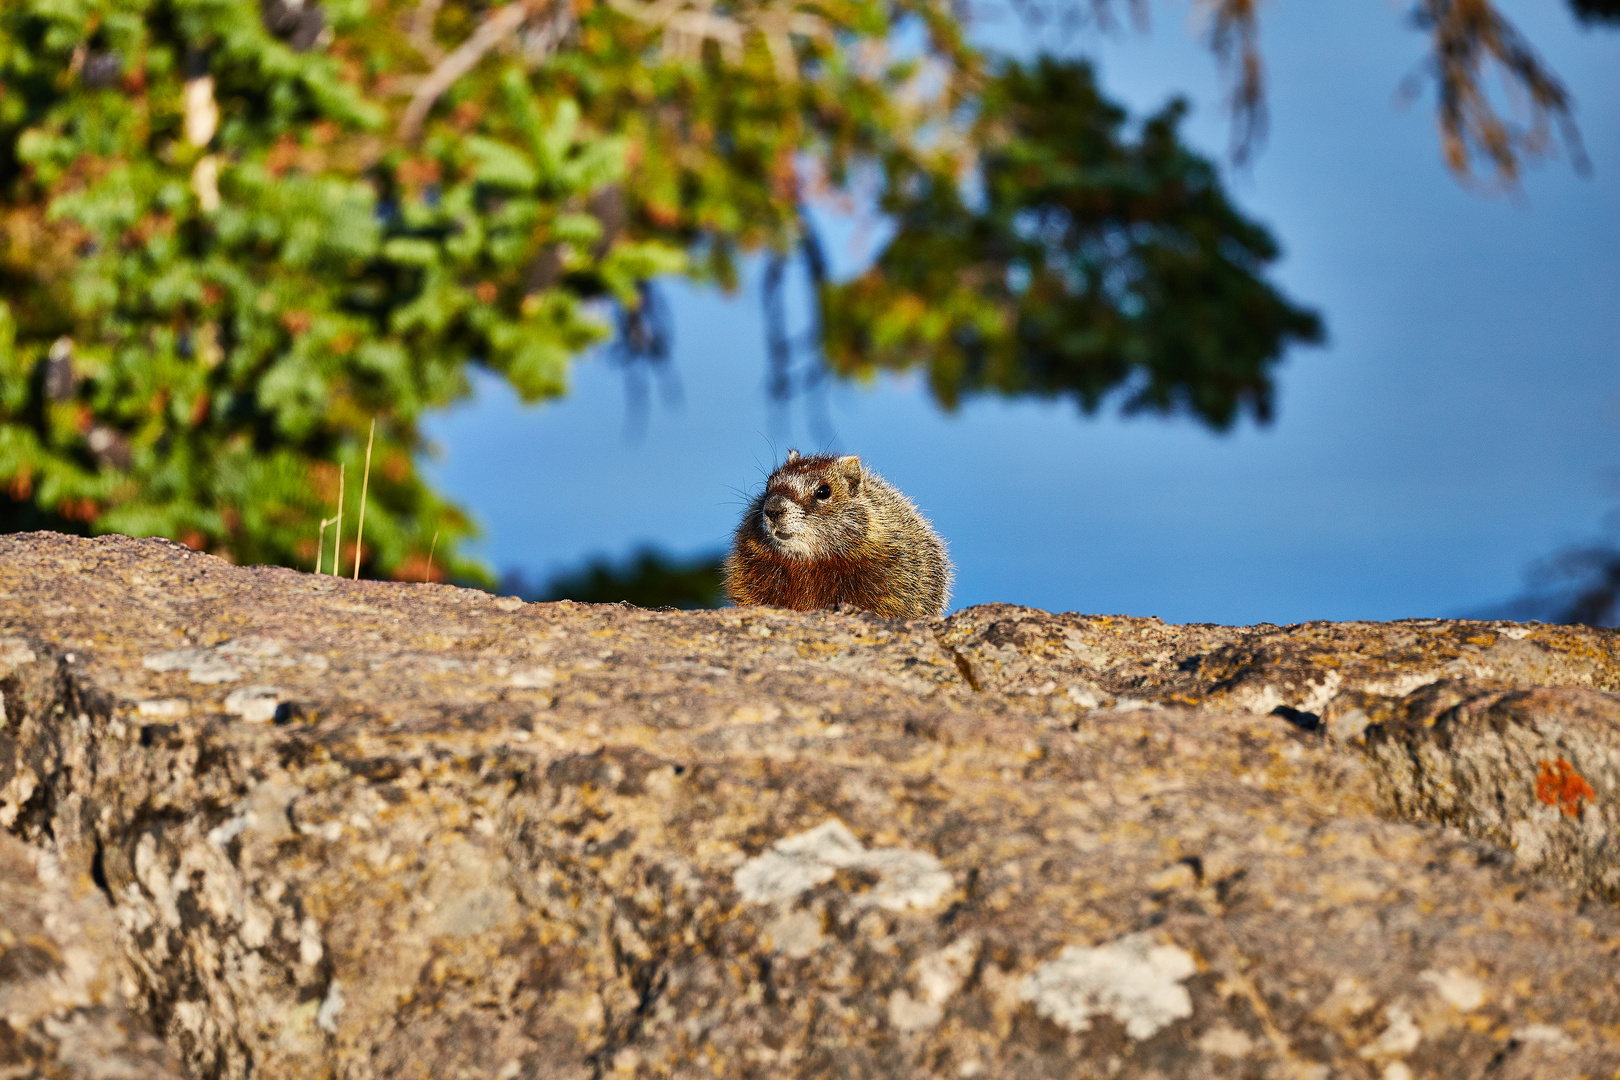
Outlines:
[{"label": "bright green blurred conifer foliage filling the upper left corner", "polygon": [[852,60],[904,3],[829,3],[805,78],[770,40],[680,55],[585,3],[514,26],[405,131],[441,42],[517,10],[543,5],[0,6],[0,528],[313,567],[342,468],[347,572],[374,418],[363,572],[429,573],[437,534],[434,573],[478,576],[418,471],[467,366],[564,393],[642,282],[731,283],[786,243],[797,154],[836,172],[925,112],[894,92],[914,60]]}]

